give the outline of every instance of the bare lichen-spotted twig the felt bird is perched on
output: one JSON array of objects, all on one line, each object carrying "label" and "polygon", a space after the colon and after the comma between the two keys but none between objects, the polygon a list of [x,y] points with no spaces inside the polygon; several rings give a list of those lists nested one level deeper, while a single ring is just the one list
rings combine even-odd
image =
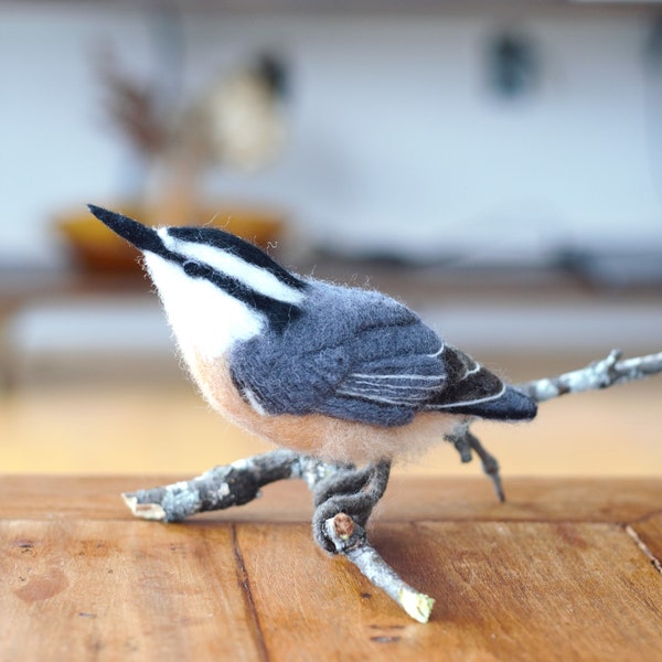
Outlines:
[{"label": "bare lichen-spotted twig the felt bird is perched on", "polygon": [[[662,372],[662,352],[619,361],[613,350],[606,359],[556,377],[544,377],[517,387],[536,402],[567,393],[607,388]],[[504,500],[499,463],[470,431],[467,418],[445,438],[462,462],[476,452],[496,494]],[[434,599],[417,591],[386,564],[367,541],[365,525],[380,501],[391,470],[389,461],[363,468],[323,462],[290,450],[274,450],[232,465],[215,467],[190,481],[124,494],[131,512],[147,520],[175,522],[195,513],[248,503],[261,487],[278,480],[302,479],[314,496],[313,537],[322,549],[342,554],[376,587],[389,595],[412,618],[427,622]]]}]

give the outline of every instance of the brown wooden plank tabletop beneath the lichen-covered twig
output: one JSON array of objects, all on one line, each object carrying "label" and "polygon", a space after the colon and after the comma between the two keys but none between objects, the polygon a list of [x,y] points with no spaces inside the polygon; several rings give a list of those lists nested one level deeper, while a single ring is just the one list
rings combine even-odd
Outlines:
[{"label": "brown wooden plank tabletop beneath the lichen-covered twig", "polygon": [[371,538],[412,621],[311,542],[302,483],[183,524],[150,478],[0,478],[1,660],[662,660],[662,480],[396,478]]}]

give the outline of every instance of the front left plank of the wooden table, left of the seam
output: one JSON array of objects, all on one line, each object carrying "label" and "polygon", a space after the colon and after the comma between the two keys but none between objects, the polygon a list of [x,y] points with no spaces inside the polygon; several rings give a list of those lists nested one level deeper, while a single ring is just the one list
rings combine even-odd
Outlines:
[{"label": "front left plank of the wooden table, left of the seam", "polygon": [[259,659],[227,527],[3,521],[0,538],[2,660]]}]

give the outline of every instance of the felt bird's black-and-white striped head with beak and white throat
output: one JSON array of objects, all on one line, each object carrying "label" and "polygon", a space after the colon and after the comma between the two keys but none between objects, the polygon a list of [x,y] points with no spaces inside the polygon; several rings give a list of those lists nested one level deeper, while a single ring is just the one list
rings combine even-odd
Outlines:
[{"label": "felt bird's black-and-white striped head with beak and white throat", "polygon": [[265,324],[300,313],[306,281],[253,244],[216,227],[148,227],[108,210],[89,211],[136,246],[180,344],[220,355]]}]

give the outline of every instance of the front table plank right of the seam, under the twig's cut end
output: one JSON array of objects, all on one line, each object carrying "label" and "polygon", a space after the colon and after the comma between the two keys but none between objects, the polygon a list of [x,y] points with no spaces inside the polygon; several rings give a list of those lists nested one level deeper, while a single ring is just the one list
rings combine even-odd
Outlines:
[{"label": "front table plank right of the seam, under the twig's cut end", "polygon": [[[621,527],[519,522],[389,524],[373,542],[436,600],[427,626],[305,526],[239,526],[259,624],[274,660],[659,659],[662,581]],[[288,541],[293,556],[273,555]],[[290,568],[295,564],[297,576]],[[331,566],[331,568],[329,567]],[[267,569],[268,568],[268,569]],[[310,637],[318,632],[319,639]],[[633,648],[636,647],[636,648]]]}]

